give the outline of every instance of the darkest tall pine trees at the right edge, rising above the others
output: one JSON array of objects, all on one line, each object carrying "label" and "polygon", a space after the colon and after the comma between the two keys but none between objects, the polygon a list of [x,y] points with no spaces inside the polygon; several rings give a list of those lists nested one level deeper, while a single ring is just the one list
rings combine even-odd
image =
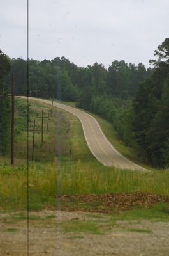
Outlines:
[{"label": "darkest tall pine trees at the right edge, rising above the others", "polygon": [[[154,166],[168,164],[169,63],[168,44],[159,45],[154,73],[140,84],[133,101],[133,132],[140,151]],[[163,48],[165,47],[165,48]],[[163,56],[162,51],[165,56]],[[166,62],[161,61],[166,58]]]}]

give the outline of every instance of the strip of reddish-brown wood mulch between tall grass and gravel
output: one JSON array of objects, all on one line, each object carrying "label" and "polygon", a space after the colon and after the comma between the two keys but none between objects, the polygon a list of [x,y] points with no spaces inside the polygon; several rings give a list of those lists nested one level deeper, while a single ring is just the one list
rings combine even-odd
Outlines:
[{"label": "strip of reddish-brown wood mulch between tall grass and gravel", "polygon": [[[154,193],[108,193],[103,195],[62,195],[62,211],[114,212],[132,207],[150,207],[169,202],[169,196]],[[71,205],[72,204],[72,205]],[[91,208],[89,207],[91,205]]]}]

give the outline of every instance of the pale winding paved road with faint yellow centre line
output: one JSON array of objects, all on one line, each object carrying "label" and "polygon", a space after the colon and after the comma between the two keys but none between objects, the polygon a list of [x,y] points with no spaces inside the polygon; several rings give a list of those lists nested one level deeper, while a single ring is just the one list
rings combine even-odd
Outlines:
[{"label": "pale winding paved road with faint yellow centre line", "polygon": [[[22,98],[27,99],[27,97]],[[35,99],[29,97],[29,100]],[[37,99],[37,101],[49,105],[52,104],[50,100]],[[126,157],[122,156],[122,154],[117,152],[117,150],[107,140],[105,134],[103,134],[103,131],[101,130],[98,122],[93,116],[79,109],[72,108],[70,106],[66,106],[57,102],[54,102],[54,106],[64,109],[79,118],[80,122],[82,123],[87,145],[91,150],[92,154],[96,157],[96,159],[98,159],[99,162],[101,162],[105,166],[115,166],[116,168],[125,168],[129,170],[146,170],[145,168],[142,168],[141,166],[132,163],[131,161],[126,159]]]}]

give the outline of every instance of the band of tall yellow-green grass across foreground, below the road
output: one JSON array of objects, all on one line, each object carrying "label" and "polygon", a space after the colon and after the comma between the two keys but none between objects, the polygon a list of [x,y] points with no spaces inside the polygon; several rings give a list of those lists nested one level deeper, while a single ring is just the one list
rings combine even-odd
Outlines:
[{"label": "band of tall yellow-green grass across foreground, below the road", "polygon": [[[54,205],[57,185],[61,184],[62,195],[88,193],[119,193],[144,191],[169,196],[169,170],[134,172],[96,167],[80,163],[57,170],[57,163],[29,168],[29,205]],[[24,209],[27,205],[27,169],[1,167],[0,206]]]}]

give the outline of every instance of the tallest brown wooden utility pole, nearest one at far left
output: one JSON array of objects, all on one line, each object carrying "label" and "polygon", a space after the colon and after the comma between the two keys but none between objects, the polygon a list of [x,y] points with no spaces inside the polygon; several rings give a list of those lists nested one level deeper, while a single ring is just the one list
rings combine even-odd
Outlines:
[{"label": "tallest brown wooden utility pole, nearest one at far left", "polygon": [[15,74],[11,81],[11,165],[14,164],[14,111],[15,111]]}]

